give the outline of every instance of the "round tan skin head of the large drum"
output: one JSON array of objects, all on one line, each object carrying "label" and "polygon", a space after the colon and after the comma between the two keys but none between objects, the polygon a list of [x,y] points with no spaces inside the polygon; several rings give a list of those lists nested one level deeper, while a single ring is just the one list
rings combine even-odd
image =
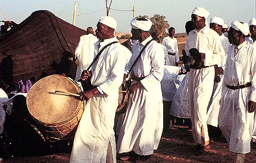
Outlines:
[{"label": "round tan skin head of the large drum", "polygon": [[34,83],[26,97],[29,113],[40,123],[47,125],[63,124],[78,114],[82,101],[68,94],[55,94],[55,91],[79,94],[79,87],[59,74],[47,76]]}]

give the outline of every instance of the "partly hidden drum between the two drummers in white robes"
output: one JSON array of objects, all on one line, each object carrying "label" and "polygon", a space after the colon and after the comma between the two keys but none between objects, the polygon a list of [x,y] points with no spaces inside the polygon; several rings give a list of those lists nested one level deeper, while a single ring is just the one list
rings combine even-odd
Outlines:
[{"label": "partly hidden drum between the two drummers in white robes", "polygon": [[125,89],[122,84],[119,87],[119,98],[118,98],[118,108],[116,109],[116,113],[123,114],[126,111],[127,104],[129,100],[129,92]]}]

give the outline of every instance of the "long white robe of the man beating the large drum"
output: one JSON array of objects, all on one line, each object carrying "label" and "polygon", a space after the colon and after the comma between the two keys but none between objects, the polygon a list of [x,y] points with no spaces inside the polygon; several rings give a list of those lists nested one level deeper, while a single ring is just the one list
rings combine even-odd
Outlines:
[{"label": "long white robe of the man beating the large drum", "polygon": [[[95,44],[95,54],[105,45],[117,41],[105,39]],[[98,45],[100,48],[98,49]],[[111,143],[114,162],[116,147],[114,136],[114,117],[118,106],[118,90],[123,81],[124,67],[127,62],[123,55],[124,47],[119,43],[111,44],[92,66],[91,83],[100,92],[87,101],[86,108],[75,133],[70,162],[106,162],[107,146]]]}]

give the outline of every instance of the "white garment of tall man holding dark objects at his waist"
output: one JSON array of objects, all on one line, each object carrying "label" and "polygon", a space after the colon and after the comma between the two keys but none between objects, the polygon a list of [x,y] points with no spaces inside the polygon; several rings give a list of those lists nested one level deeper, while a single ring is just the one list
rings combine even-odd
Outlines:
[{"label": "white garment of tall man holding dark objects at his waist", "polygon": [[[205,26],[200,31],[192,30],[188,34],[185,49],[196,48],[205,53],[203,69],[190,69],[188,78],[188,103],[191,110],[192,134],[197,144],[202,144],[201,127],[204,128],[204,141],[209,141],[207,128],[207,108],[212,96],[215,70],[213,65],[221,66],[224,50],[217,32]],[[194,59],[191,57],[191,63]]]}]

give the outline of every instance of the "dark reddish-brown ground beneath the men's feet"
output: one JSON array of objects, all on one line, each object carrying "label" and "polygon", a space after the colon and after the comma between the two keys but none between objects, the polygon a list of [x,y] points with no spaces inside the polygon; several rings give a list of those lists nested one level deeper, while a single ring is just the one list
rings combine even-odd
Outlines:
[{"label": "dark reddish-brown ground beneath the men's feet", "polygon": [[[235,155],[228,150],[228,144],[223,137],[214,139],[211,145],[212,148],[210,150],[203,153],[195,152],[191,131],[187,128],[174,125],[172,129],[163,133],[158,150],[156,150],[146,162],[233,162]],[[245,162],[256,162],[255,156],[256,145],[253,143],[251,145],[251,152],[245,156]],[[69,158],[70,153],[54,153],[48,156],[13,157],[1,161],[1,163],[68,163]],[[118,160],[117,162],[122,163],[123,161]]]}]

